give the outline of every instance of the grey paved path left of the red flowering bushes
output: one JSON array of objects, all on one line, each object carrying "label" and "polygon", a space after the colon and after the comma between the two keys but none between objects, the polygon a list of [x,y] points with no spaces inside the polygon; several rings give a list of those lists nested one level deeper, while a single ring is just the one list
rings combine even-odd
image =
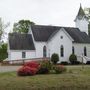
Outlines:
[{"label": "grey paved path left of the red flowering bushes", "polygon": [[0,66],[1,72],[17,71],[21,66]]}]

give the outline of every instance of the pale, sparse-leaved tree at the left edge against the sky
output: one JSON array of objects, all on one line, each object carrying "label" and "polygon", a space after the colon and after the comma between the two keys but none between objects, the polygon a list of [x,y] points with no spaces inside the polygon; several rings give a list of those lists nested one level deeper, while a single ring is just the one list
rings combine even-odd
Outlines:
[{"label": "pale, sparse-leaved tree at the left edge against the sky", "polygon": [[7,34],[7,32],[5,31],[5,29],[10,25],[10,23],[6,23],[4,24],[2,19],[0,18],[0,41],[5,37],[5,35]]}]

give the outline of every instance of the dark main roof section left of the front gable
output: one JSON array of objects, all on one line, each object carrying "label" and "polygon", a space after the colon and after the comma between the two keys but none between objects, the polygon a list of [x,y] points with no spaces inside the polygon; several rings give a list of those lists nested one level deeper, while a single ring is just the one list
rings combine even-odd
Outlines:
[{"label": "dark main roof section left of the front gable", "polygon": [[51,34],[53,34],[53,32],[58,30],[59,28],[60,27],[44,25],[31,26],[33,36],[36,41],[47,41]]}]

